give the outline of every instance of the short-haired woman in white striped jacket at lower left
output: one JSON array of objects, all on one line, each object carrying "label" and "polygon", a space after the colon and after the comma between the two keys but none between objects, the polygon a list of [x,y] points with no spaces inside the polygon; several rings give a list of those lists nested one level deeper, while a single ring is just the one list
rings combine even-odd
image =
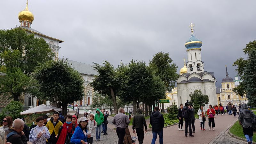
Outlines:
[{"label": "short-haired woman in white striped jacket at lower left", "polygon": [[29,141],[33,144],[46,144],[46,139],[49,139],[51,134],[46,126],[44,126],[44,117],[36,118],[36,127],[29,134]]}]

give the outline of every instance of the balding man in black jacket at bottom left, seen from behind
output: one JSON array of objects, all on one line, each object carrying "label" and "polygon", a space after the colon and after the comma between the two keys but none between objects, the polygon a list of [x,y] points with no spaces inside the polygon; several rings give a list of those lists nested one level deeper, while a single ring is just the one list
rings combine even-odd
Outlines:
[{"label": "balding man in black jacket at bottom left, seen from behind", "polygon": [[23,127],[24,121],[20,118],[15,119],[12,123],[12,128],[6,131],[6,142],[10,142],[12,144],[27,144],[27,137],[22,131]]}]

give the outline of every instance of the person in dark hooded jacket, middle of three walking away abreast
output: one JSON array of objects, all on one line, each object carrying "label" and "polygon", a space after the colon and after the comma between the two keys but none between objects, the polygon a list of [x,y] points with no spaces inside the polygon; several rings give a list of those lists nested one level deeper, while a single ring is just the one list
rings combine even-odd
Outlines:
[{"label": "person in dark hooded jacket, middle of three walking away abreast", "polygon": [[144,140],[143,125],[145,127],[145,132],[147,132],[147,123],[146,123],[145,117],[141,114],[142,114],[141,109],[137,108],[137,114],[133,116],[133,121],[132,121],[132,130],[133,130],[133,133],[135,133],[135,129],[136,129],[136,134],[139,139],[139,144],[143,144],[143,140]]}]

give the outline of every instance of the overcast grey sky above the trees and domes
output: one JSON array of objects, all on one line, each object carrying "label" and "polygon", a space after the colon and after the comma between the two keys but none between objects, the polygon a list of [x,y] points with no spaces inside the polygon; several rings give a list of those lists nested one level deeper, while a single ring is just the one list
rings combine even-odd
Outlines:
[{"label": "overcast grey sky above the trees and domes", "polygon": [[[29,0],[35,20],[31,25],[60,44],[59,56],[92,64],[122,60],[146,63],[157,52],[169,52],[180,68],[187,59],[184,46],[190,38],[190,23],[203,42],[201,56],[205,71],[214,72],[220,86],[228,66],[235,76],[233,62],[246,57],[242,51],[256,39],[255,0]],[[1,1],[0,28],[19,26],[18,13],[26,0]]]}]

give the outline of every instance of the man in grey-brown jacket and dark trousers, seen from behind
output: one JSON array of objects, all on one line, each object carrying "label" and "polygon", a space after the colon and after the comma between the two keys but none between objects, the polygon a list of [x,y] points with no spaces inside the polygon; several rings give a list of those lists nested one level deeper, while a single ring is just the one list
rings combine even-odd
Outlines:
[{"label": "man in grey-brown jacket and dark trousers, seen from behind", "polygon": [[118,144],[123,144],[125,128],[130,123],[128,116],[124,114],[124,108],[119,109],[119,113],[114,116],[112,123],[116,125]]}]

